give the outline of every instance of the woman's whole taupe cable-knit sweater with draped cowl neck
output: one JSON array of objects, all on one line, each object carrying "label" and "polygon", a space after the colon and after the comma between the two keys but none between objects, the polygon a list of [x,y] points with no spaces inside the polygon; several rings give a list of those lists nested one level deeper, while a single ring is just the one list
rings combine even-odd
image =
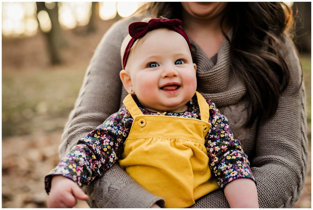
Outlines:
[{"label": "woman's whole taupe cable-knit sweater with draped cowl neck", "polygon": [[[60,158],[96,126],[122,105],[126,96],[119,77],[120,47],[128,34],[128,25],[141,21],[131,17],[115,23],[104,35],[85,74],[75,107],[70,113],[59,147]],[[300,196],[307,172],[308,141],[306,138],[305,92],[301,67],[291,42],[285,43],[285,61],[290,69],[290,83],[280,95],[278,109],[270,119],[255,120],[245,128],[246,87],[230,68],[229,44],[224,40],[214,65],[202,49],[193,52],[197,64],[197,90],[212,100],[228,118],[234,137],[241,141],[257,181],[260,207],[292,207]],[[266,103],[271,103],[267,101]],[[90,207],[150,207],[164,200],[139,186],[118,164],[104,176],[83,187],[90,196]],[[222,190],[198,199],[192,208],[229,207]]]}]

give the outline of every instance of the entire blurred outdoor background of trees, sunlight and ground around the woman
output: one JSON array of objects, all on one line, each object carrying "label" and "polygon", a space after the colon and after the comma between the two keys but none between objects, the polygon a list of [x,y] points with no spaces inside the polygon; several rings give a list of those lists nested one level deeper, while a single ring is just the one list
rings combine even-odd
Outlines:
[{"label": "entire blurred outdoor background of trees, sunlight and ground around the woman", "polygon": [[[113,23],[143,4],[2,3],[2,207],[47,207],[44,176],[59,162],[63,127],[95,48]],[[311,3],[289,4],[306,87],[311,151]],[[311,207],[310,162],[295,207]]]}]

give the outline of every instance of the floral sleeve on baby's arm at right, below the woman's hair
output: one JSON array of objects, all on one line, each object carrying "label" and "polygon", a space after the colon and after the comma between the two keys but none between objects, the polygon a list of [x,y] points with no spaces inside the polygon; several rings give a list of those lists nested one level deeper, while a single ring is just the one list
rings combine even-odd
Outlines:
[{"label": "floral sleeve on baby's arm at right, below the woman's hair", "polygon": [[227,118],[210,103],[211,123],[207,135],[206,148],[210,159],[210,168],[220,187],[239,178],[250,178],[255,182],[249,168],[248,156],[244,154],[240,142],[233,138]]}]

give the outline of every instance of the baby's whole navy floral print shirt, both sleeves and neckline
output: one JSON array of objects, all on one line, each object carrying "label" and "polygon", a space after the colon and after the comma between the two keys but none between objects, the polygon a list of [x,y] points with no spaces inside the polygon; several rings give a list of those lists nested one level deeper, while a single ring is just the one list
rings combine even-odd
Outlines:
[{"label": "baby's whole navy floral print shirt, both sleeves and neckline", "polygon": [[[240,142],[233,138],[227,118],[218,111],[214,103],[210,100],[207,102],[210,107],[209,123],[212,126],[206,136],[205,146],[210,160],[210,169],[219,186],[225,187],[227,183],[239,178],[250,178],[255,182],[247,155],[244,154]],[[145,115],[164,114],[145,110],[138,101],[136,103]],[[187,105],[188,110],[184,112],[169,112],[165,115],[201,120],[196,95]],[[130,113],[125,106],[122,106],[86,138],[80,139],[59,165],[45,177],[46,192],[48,194],[50,192],[53,175],[67,177],[79,186],[87,185],[102,176],[121,155],[132,122]]]}]

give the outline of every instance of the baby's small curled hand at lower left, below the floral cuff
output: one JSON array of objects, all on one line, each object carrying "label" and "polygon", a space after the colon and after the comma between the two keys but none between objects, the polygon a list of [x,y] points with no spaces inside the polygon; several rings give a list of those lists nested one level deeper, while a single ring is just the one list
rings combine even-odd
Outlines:
[{"label": "baby's small curled hand at lower left, below the floral cuff", "polygon": [[61,175],[55,175],[51,180],[51,191],[48,197],[50,208],[72,208],[77,200],[87,200],[88,195],[72,180]]}]

